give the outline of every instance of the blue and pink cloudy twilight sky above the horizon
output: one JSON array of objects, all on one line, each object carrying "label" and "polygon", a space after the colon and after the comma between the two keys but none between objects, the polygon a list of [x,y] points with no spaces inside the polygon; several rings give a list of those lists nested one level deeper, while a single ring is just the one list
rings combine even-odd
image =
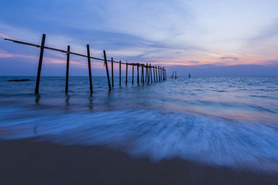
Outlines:
[{"label": "blue and pink cloudy twilight sky above the horizon", "polygon": [[[0,76],[33,76],[40,49],[11,38],[129,63],[152,63],[180,76],[278,74],[277,0],[1,0]],[[65,54],[46,50],[42,75],[65,75]],[[70,75],[88,75],[71,56]],[[115,66],[117,69],[117,66]],[[130,71],[130,70],[129,70]],[[124,74],[124,73],[123,73]],[[92,75],[105,75],[92,61]],[[117,72],[115,72],[117,75]]]}]

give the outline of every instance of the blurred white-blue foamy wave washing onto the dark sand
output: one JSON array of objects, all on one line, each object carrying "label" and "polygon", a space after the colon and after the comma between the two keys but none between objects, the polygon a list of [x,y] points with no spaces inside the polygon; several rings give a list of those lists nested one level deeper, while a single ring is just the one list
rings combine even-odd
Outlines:
[{"label": "blurred white-blue foamy wave washing onto the dark sand", "polygon": [[62,145],[106,145],[154,162],[179,157],[215,166],[278,170],[275,122],[152,110],[42,114],[0,109],[2,139],[40,136]]}]

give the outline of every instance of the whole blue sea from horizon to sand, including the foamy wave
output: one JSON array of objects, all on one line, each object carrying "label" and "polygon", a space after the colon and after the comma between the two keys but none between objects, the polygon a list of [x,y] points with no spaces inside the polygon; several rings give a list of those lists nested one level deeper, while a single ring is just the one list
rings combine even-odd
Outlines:
[{"label": "whole blue sea from horizon to sand, including the foamy wave", "polygon": [[[31,81],[8,82],[8,79]],[[104,145],[131,156],[278,171],[278,77],[0,77],[0,138]]]}]

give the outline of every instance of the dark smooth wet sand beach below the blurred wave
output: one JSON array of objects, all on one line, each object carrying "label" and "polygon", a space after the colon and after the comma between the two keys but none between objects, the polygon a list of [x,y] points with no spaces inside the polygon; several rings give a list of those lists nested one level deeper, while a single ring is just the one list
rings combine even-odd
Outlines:
[{"label": "dark smooth wet sand beach below the blurred wave", "polygon": [[0,184],[278,184],[278,175],[24,139],[0,141]]}]

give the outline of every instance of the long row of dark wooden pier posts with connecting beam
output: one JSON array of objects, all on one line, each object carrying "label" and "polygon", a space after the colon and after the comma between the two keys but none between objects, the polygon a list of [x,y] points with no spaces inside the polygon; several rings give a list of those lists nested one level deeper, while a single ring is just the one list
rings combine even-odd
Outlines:
[{"label": "long row of dark wooden pier posts with connecting beam", "polygon": [[[31,44],[28,42],[22,42],[19,40],[12,40],[12,39],[8,39],[5,38],[5,40],[10,40],[12,42],[18,43],[18,44],[22,44],[22,45],[28,45],[28,46],[32,46],[32,47],[37,47],[40,48],[40,58],[39,58],[39,63],[38,63],[38,74],[37,74],[37,80],[36,80],[36,84],[35,84],[35,94],[39,93],[39,86],[40,86],[40,72],[42,70],[42,59],[43,59],[43,54],[44,54],[44,49],[49,49],[49,50],[53,50],[53,51],[59,51],[62,53],[65,53],[67,55],[67,68],[66,68],[66,80],[65,80],[65,93],[67,94],[68,92],[68,81],[69,81],[69,70],[70,70],[70,55],[76,55],[76,56],[82,56],[85,58],[88,58],[88,72],[89,72],[89,81],[90,81],[90,93],[93,93],[92,90],[92,71],[91,71],[91,59],[93,60],[97,60],[97,61],[104,61],[104,65],[106,67],[106,76],[107,76],[107,81],[108,81],[108,88],[109,90],[111,90],[114,86],[114,63],[119,63],[120,65],[120,83],[119,85],[122,85],[122,79],[121,79],[121,65],[124,64],[126,65],[126,81],[125,84],[127,85],[127,71],[128,71],[128,66],[132,66],[132,84],[133,84],[133,79],[134,79],[134,67],[137,68],[137,84],[138,86],[140,85],[140,77],[139,77],[139,72],[140,72],[140,67],[142,69],[141,71],[141,83],[144,84],[145,83],[153,83],[153,82],[158,82],[158,81],[165,81],[167,80],[166,77],[166,70],[164,67],[159,67],[159,66],[154,66],[151,64],[144,64],[144,63],[128,63],[126,61],[126,63],[122,63],[122,61],[114,61],[113,58],[111,58],[111,60],[108,60],[106,58],[106,51],[104,50],[104,58],[96,58],[90,55],[90,46],[87,45],[87,55],[84,54],[77,54],[74,53],[72,51],[70,51],[70,46],[67,46],[67,51],[63,50],[63,49],[56,49],[56,48],[52,48],[52,47],[46,47],[44,46],[45,43],[45,38],[46,35],[42,34],[42,42],[41,45],[35,45],[35,44]],[[109,77],[109,69],[108,69],[108,62],[111,62],[111,74],[112,74],[112,86],[111,86],[111,79]],[[145,79],[144,79],[144,70],[145,70]],[[153,73],[152,73],[153,70]],[[154,77],[154,80],[153,80]]]}]

